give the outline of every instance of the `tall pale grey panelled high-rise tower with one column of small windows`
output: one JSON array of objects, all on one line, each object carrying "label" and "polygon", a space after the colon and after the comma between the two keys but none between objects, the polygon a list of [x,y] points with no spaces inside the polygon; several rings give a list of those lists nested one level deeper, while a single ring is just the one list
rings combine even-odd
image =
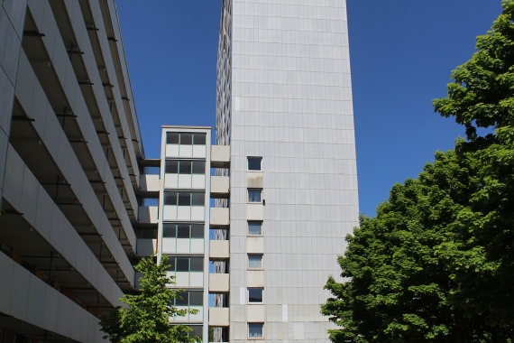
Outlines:
[{"label": "tall pale grey panelled high-rise tower with one column of small windows", "polygon": [[359,212],[345,0],[224,0],[217,66],[230,282],[216,340],[328,341],[323,286]]}]

